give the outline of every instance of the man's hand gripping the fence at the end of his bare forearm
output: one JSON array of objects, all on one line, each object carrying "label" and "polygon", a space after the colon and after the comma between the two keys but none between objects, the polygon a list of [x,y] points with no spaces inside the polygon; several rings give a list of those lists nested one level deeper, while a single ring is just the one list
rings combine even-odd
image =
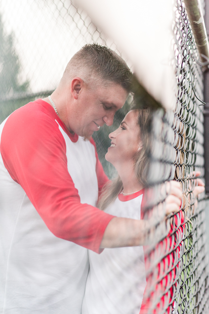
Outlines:
[{"label": "man's hand gripping the fence at the end of his bare forearm", "polygon": [[170,214],[178,212],[182,201],[182,187],[178,181],[169,181],[166,183],[166,191],[169,195],[165,199],[165,212]]}]

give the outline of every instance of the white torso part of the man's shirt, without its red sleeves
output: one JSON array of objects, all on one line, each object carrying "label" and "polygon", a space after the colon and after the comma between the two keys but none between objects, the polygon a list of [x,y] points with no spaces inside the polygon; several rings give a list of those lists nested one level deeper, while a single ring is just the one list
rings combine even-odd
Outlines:
[{"label": "white torso part of the man's shirt, without its red sleeves", "polygon": [[[60,125],[59,130],[81,203],[96,206],[95,147],[81,137],[73,143]],[[0,208],[0,313],[81,314],[89,269],[87,249],[56,237],[47,228],[24,189],[11,178],[1,155]]]}]

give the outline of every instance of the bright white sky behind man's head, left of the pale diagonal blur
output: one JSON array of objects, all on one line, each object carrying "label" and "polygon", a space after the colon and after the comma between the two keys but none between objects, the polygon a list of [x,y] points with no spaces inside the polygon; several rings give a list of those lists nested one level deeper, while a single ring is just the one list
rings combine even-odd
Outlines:
[{"label": "bright white sky behind man's head, left of the pale diagonal blur", "polygon": [[[69,0],[1,0],[0,14],[6,34],[14,34],[20,79],[29,79],[30,92],[55,89],[71,57],[93,41]],[[95,41],[98,36],[95,32]]]}]

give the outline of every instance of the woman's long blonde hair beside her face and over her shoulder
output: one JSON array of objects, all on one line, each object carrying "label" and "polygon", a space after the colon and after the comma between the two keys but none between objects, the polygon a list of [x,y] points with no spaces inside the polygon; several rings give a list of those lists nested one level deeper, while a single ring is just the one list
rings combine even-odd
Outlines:
[{"label": "woman's long blonde hair beside her face and over her shoulder", "polygon": [[[137,125],[138,125],[138,138],[143,143],[143,147],[139,150],[135,155],[135,163],[133,166],[133,171],[135,173],[138,182],[142,186],[147,185],[147,167],[148,167],[148,160],[147,160],[147,148],[150,143],[149,141],[149,132],[148,126],[151,118],[151,110],[150,108],[137,108],[132,107],[131,110],[136,110],[137,116]],[[123,183],[121,181],[120,176],[118,175],[115,179],[111,182],[108,182],[102,189],[101,197],[99,198],[97,207],[101,210],[104,210],[109,206],[111,203],[115,201],[118,197],[118,194],[123,190]]]}]

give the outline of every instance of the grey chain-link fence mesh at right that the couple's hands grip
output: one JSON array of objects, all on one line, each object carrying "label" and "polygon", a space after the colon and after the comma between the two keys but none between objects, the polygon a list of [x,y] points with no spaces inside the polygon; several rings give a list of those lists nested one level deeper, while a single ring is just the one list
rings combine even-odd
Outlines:
[{"label": "grey chain-link fence mesh at right that the couple's hands grip", "polygon": [[[185,219],[178,221],[176,214],[174,221],[170,220],[171,235],[148,253],[150,277],[147,284],[147,301],[152,299],[148,312],[207,313],[209,295],[205,250],[205,201],[204,195],[201,195],[197,204],[191,193],[196,185],[194,171],[200,171],[201,177],[204,176],[203,113],[202,107],[199,106],[201,102],[196,98],[197,95],[203,99],[203,83],[198,51],[184,5],[180,0],[175,2],[173,32],[177,106],[174,114],[162,114],[161,131],[160,127],[157,127],[160,117],[155,114],[155,142],[159,140],[160,132],[164,147],[160,156],[159,149],[153,150],[157,152],[157,156],[152,154],[152,160],[154,169],[159,170],[155,170],[157,181],[159,178],[168,180],[175,177],[182,183],[188,201],[187,204],[183,202],[182,212],[188,220],[183,230]],[[175,154],[172,147],[175,148]],[[150,170],[152,181],[154,169]],[[172,174],[174,172],[175,174]],[[157,286],[159,289],[155,289]]]}]

